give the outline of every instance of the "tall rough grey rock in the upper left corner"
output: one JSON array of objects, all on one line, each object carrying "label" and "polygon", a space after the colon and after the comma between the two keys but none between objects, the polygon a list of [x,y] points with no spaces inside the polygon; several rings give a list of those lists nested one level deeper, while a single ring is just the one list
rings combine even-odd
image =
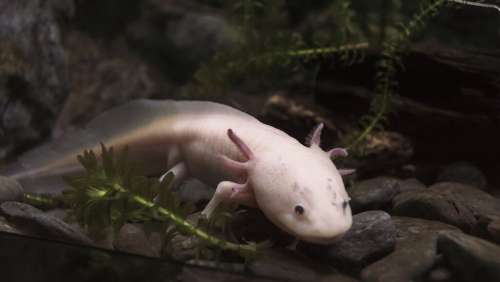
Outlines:
[{"label": "tall rough grey rock in the upper left corner", "polygon": [[[61,23],[71,0],[0,4],[0,159],[46,137],[67,94]],[[4,83],[3,83],[4,82]]]}]

